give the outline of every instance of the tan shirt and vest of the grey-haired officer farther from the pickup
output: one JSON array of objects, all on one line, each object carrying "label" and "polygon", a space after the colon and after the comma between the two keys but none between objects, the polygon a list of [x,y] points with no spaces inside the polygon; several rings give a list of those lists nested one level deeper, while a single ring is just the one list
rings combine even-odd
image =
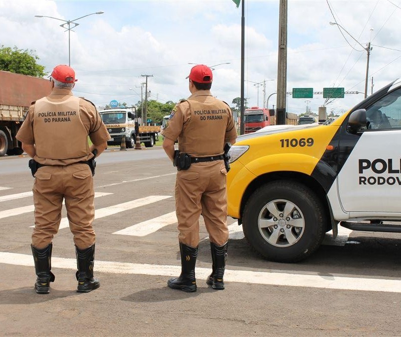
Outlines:
[{"label": "tan shirt and vest of the grey-haired officer farther from the pickup", "polygon": [[110,139],[94,105],[68,89],[53,89],[30,106],[16,138],[36,145],[37,162],[69,165],[93,157],[88,135],[95,145]]}]

